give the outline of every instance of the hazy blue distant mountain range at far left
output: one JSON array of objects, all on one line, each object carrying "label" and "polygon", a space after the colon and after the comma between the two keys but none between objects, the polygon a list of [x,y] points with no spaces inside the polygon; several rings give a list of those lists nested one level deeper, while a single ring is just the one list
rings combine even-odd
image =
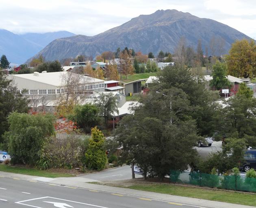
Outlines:
[{"label": "hazy blue distant mountain range at far left", "polygon": [[0,56],[5,54],[10,62],[22,64],[53,40],[73,35],[75,34],[67,31],[16,35],[0,29]]}]

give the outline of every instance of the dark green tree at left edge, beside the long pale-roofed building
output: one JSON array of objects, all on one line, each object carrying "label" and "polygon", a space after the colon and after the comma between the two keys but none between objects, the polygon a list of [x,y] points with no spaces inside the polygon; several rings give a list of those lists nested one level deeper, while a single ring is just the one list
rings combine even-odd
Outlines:
[{"label": "dark green tree at left edge, beside the long pale-roofed building", "polygon": [[29,100],[20,92],[7,76],[0,72],[0,143],[3,142],[2,134],[8,130],[7,117],[13,111],[19,113],[28,112]]}]

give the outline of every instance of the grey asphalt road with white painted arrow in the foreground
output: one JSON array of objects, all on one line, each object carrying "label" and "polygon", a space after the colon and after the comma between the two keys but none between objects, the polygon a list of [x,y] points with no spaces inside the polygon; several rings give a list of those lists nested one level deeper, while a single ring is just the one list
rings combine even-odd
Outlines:
[{"label": "grey asphalt road with white painted arrow in the foreground", "polygon": [[187,204],[69,186],[0,178],[0,208],[191,208]]}]

